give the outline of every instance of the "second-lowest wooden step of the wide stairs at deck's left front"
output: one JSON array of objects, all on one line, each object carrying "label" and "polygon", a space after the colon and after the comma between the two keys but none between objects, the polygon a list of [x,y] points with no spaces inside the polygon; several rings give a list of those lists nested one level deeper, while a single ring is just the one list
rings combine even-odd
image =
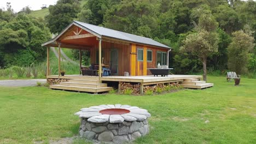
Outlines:
[{"label": "second-lowest wooden step of the wide stairs at deck's left front", "polygon": [[61,82],[61,86],[75,86],[75,87],[107,87],[107,83],[78,83],[78,82]]}]

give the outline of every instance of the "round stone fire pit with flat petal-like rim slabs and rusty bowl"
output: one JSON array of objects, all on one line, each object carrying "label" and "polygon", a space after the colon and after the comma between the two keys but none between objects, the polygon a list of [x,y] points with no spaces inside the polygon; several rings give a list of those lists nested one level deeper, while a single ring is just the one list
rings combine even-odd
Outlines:
[{"label": "round stone fire pit with flat petal-like rim slabs and rusty bowl", "polygon": [[122,143],[148,134],[150,113],[130,105],[99,105],[75,113],[81,118],[79,134],[89,140]]}]

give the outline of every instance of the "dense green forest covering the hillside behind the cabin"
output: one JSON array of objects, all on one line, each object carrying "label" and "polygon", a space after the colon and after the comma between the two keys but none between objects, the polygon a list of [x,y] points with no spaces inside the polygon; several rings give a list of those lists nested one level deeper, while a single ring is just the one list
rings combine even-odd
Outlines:
[{"label": "dense green forest covering the hillside behind the cabin", "polygon": [[0,9],[2,69],[45,63],[41,44],[78,20],[172,47],[175,74],[226,75],[232,70],[256,78],[252,0],[59,0],[48,9],[45,17],[30,15],[28,7],[14,13],[10,3]]}]

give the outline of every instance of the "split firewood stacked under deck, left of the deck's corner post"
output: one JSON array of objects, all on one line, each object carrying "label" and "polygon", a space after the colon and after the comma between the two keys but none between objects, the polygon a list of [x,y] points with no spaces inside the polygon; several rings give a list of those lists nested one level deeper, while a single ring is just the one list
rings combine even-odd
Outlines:
[{"label": "split firewood stacked under deck, left of the deck's corner post", "polygon": [[141,85],[133,82],[120,82],[119,92],[123,93],[125,89],[132,89],[132,94],[139,94]]}]

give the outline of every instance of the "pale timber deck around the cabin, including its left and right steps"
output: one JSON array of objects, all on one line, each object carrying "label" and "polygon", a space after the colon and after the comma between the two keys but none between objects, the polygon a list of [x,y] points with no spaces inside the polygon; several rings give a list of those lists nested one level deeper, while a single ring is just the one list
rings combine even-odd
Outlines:
[{"label": "pale timber deck around the cabin, including its left and right steps", "polygon": [[170,83],[177,82],[184,88],[202,89],[212,87],[213,83],[205,83],[200,81],[201,75],[168,75],[165,77],[160,76],[82,76],[82,75],[49,75],[47,76],[50,88],[64,89],[69,91],[82,91],[91,93],[100,93],[110,91],[113,87],[120,90],[120,83],[128,82],[139,85],[139,93],[144,93],[145,86],[152,85],[169,85]]}]

